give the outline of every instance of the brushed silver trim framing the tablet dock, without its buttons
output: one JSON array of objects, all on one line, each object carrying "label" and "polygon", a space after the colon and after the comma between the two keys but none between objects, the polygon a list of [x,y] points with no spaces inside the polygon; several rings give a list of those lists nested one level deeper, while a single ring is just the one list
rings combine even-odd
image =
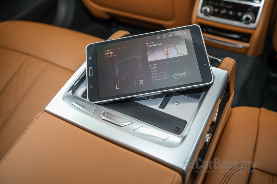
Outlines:
[{"label": "brushed silver trim framing the tablet dock, without its buttons", "polygon": [[[84,63],[50,101],[50,103],[46,106],[45,111],[77,127],[80,127],[85,131],[98,135],[127,149],[135,150],[136,152],[152,158],[159,163],[183,172],[185,182],[188,179],[192,169],[186,167],[184,161],[187,158],[196,160],[201,149],[201,145],[205,139],[205,135],[210,127],[215,108],[217,108],[216,105],[224,94],[229,73],[225,70],[212,67],[214,83],[212,83],[208,91],[203,92],[199,100],[184,95],[178,95],[177,93],[172,93],[173,95],[168,105],[164,109],[160,110],[173,115],[178,114],[179,117],[186,118],[188,121],[184,131],[180,135],[176,135],[145,122],[136,120],[130,116],[126,116],[103,106],[99,106],[98,104],[93,104],[86,99],[78,98],[74,93],[72,93],[71,87],[85,70],[86,64]],[[83,89],[83,86],[81,86],[81,88]],[[179,103],[179,106],[175,106],[175,102],[179,102],[180,98],[186,98],[186,100],[184,100],[186,101],[186,104]],[[93,114],[88,114],[79,108],[72,108],[74,106],[71,103],[74,99],[91,104],[96,107],[96,110]],[[189,100],[187,101],[187,99]],[[153,104],[159,105],[162,98],[155,97],[151,101],[145,98],[141,100],[146,100],[153,102]],[[154,106],[151,107],[155,108]],[[188,107],[193,107],[193,110],[186,112],[186,109],[184,108],[189,109]],[[119,127],[115,124],[107,122],[102,119],[102,113],[104,111],[124,117],[127,120],[131,120],[132,124]],[[181,111],[182,114],[175,113],[175,111]],[[133,131],[139,127],[151,129],[157,133],[167,136],[168,139],[165,141],[159,141],[134,133]]]}]

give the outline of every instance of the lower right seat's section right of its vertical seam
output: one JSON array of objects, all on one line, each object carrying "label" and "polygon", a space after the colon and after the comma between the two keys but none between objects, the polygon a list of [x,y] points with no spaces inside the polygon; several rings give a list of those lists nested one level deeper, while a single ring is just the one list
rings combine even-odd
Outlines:
[{"label": "lower right seat's section right of its vertical seam", "polygon": [[261,108],[254,154],[256,168],[277,175],[277,112]]}]

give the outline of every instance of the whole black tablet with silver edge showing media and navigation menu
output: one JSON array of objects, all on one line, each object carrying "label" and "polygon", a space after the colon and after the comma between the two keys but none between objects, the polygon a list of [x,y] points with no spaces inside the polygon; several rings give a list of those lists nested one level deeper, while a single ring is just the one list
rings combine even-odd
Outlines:
[{"label": "whole black tablet with silver edge showing media and navigation menu", "polygon": [[198,25],[91,43],[86,63],[87,97],[93,103],[213,82]]}]

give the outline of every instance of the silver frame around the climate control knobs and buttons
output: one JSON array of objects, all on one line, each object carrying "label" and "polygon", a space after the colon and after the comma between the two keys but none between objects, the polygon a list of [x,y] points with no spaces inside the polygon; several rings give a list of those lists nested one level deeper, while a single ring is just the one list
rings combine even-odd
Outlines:
[{"label": "silver frame around the climate control knobs and buttons", "polygon": [[261,3],[251,3],[251,2],[239,1],[239,0],[222,0],[222,1],[241,3],[241,4],[246,4],[246,5],[252,5],[252,6],[260,7],[255,22],[254,23],[245,24],[244,22],[239,22],[239,21],[235,21],[235,20],[228,20],[228,19],[214,17],[214,16],[210,16],[210,15],[206,16],[203,13],[201,13],[201,8],[202,8],[203,0],[200,0],[200,2],[199,2],[198,10],[197,10],[197,17],[205,19],[205,20],[210,20],[210,21],[222,23],[222,24],[232,25],[232,26],[239,26],[239,27],[250,28],[250,29],[255,29],[257,27],[257,24],[259,22],[259,19],[260,19],[262,10],[263,10],[264,0],[261,0]]}]

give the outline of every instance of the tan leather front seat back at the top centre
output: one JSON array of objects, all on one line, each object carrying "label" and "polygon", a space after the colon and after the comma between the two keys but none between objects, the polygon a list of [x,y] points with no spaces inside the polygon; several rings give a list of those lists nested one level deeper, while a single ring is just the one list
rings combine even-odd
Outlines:
[{"label": "tan leather front seat back at the top centre", "polygon": [[[156,28],[175,28],[189,25],[195,0],[82,0],[97,17]],[[161,13],[162,12],[162,13]]]}]

